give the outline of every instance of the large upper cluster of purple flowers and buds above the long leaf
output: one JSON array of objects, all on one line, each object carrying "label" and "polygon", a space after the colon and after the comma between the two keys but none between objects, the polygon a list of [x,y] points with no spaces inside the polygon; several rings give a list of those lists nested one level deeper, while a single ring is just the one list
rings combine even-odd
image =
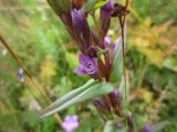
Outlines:
[{"label": "large upper cluster of purple flowers and buds above the long leaf", "polygon": [[[48,0],[50,6],[60,16],[71,36],[80,48],[80,66],[74,73],[88,75],[94,79],[110,80],[116,42],[107,36],[114,10],[113,0],[101,7],[100,16],[96,21],[95,11],[85,12],[84,0]],[[60,3],[60,4],[59,4]],[[91,15],[98,25],[91,28],[87,16]],[[95,30],[96,29],[96,30]]]}]

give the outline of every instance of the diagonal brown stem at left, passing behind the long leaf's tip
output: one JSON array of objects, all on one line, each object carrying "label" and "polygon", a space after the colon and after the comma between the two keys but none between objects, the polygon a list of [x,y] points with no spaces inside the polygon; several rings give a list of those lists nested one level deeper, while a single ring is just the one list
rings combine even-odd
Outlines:
[{"label": "diagonal brown stem at left, passing behind the long leaf's tip", "polygon": [[[41,94],[41,96],[43,97],[43,99],[45,100],[46,105],[51,103],[50,98],[48,97],[48,95],[45,94],[45,91],[43,90],[43,88],[39,85],[39,82],[35,80],[34,77],[32,77],[32,75],[30,74],[30,72],[25,68],[25,66],[22,64],[21,59],[15,55],[15,53],[11,50],[11,47],[8,45],[8,43],[4,41],[4,38],[0,35],[0,41],[2,42],[3,46],[8,50],[8,52],[10,53],[10,55],[14,58],[14,61],[18,63],[18,65],[23,69],[23,72],[27,74],[27,76],[31,79],[31,81],[35,85],[37,89],[39,90],[39,92]],[[54,114],[56,121],[59,122],[59,124],[61,125],[62,120],[60,118],[59,114]]]}]

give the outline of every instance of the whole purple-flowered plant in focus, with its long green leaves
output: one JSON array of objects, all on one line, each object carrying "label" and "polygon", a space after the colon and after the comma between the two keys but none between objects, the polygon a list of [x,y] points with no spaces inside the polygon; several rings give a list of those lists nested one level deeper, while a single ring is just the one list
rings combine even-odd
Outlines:
[{"label": "whole purple-flowered plant in focus, with its long green leaves", "polygon": [[[73,69],[74,73],[88,75],[92,79],[58,99],[44,109],[39,118],[92,100],[105,123],[105,132],[152,132],[152,127],[147,124],[139,130],[135,129],[133,114],[128,111],[124,61],[124,26],[129,12],[128,0],[125,3],[113,0],[48,0],[48,2],[80,50],[80,65]],[[92,18],[94,25],[91,26],[88,18]],[[112,18],[117,18],[119,25],[119,32],[114,38],[108,35]]]}]

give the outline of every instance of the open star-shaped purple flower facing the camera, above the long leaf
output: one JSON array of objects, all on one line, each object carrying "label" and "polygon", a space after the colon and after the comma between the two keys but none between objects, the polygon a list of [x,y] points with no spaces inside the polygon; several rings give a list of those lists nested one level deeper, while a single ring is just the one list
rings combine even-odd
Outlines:
[{"label": "open star-shaped purple flower facing the camera, above the long leaf", "polygon": [[79,75],[94,75],[97,73],[97,61],[95,57],[85,56],[80,53],[80,66],[74,69]]}]

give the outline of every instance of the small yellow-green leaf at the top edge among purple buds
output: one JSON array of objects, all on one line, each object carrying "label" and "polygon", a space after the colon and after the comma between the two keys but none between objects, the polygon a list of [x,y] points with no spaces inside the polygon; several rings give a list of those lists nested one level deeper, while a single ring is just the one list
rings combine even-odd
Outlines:
[{"label": "small yellow-green leaf at the top edge among purple buds", "polygon": [[84,12],[90,12],[103,7],[107,2],[108,0],[91,0],[82,9]]}]

